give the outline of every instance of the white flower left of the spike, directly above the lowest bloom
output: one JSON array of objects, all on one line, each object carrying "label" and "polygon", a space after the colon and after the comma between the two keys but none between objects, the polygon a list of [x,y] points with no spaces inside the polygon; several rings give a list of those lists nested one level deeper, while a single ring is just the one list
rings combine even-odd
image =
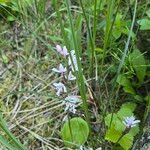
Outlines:
[{"label": "white flower left of the spike, directly above the lowest bloom", "polygon": [[59,83],[53,83],[53,85],[55,86],[55,89],[57,90],[56,95],[60,96],[61,93],[66,93],[67,89],[65,87],[65,85],[61,82]]}]

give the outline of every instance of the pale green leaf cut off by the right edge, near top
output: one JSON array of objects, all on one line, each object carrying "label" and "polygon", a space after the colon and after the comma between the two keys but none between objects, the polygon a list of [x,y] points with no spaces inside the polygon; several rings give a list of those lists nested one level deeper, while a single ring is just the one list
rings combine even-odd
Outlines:
[{"label": "pale green leaf cut off by the right edge, near top", "polygon": [[150,19],[145,18],[138,21],[141,30],[150,30]]}]

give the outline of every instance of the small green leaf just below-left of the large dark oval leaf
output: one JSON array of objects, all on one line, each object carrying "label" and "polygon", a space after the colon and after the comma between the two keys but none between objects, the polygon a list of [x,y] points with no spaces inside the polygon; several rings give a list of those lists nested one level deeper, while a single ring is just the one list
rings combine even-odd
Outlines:
[{"label": "small green leaf just below-left of the large dark oval leaf", "polygon": [[124,74],[120,74],[118,76],[117,82],[119,83],[119,85],[123,86],[123,89],[126,93],[130,93],[133,95],[135,94],[135,91],[132,87],[130,80]]}]

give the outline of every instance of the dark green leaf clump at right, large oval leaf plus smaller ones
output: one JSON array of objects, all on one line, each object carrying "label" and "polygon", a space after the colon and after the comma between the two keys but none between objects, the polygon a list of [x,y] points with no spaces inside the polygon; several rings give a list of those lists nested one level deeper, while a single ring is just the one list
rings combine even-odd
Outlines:
[{"label": "dark green leaf clump at right, large oval leaf plus smaller ones", "polygon": [[[142,85],[147,76],[147,62],[144,55],[138,49],[134,49],[130,53],[126,68],[128,71],[118,75],[117,83],[123,87],[126,93],[133,95],[134,99],[142,101],[142,97],[136,93],[136,89]],[[136,80],[133,80],[133,78]]]}]

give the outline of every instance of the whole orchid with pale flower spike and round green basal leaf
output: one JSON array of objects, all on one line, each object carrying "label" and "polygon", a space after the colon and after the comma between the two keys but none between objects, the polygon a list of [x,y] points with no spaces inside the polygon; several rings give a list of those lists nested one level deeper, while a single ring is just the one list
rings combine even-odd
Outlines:
[{"label": "whole orchid with pale flower spike and round green basal leaf", "polygon": [[[53,72],[60,74],[62,77],[62,81],[53,83],[56,95],[60,97],[67,93],[66,84],[76,80],[74,74],[78,71],[78,65],[74,50],[71,50],[69,53],[66,46],[62,48],[60,45],[56,45],[56,51],[68,61],[67,67],[60,63],[57,68],[52,69]],[[67,147],[79,149],[87,141],[89,126],[81,117],[71,118],[69,115],[71,113],[76,114],[77,107],[81,104],[80,96],[68,94],[63,99],[64,111],[67,112],[67,115],[63,118],[65,123],[61,129],[61,137]]]}]

